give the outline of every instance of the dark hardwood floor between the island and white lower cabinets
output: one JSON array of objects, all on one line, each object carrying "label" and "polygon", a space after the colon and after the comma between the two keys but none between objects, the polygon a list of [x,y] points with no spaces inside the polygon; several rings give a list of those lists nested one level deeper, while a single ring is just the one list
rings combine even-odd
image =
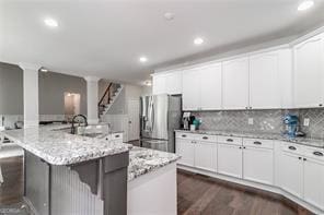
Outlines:
[{"label": "dark hardwood floor between the island and white lower cabinets", "polygon": [[281,195],[178,170],[178,215],[310,215]]}]

